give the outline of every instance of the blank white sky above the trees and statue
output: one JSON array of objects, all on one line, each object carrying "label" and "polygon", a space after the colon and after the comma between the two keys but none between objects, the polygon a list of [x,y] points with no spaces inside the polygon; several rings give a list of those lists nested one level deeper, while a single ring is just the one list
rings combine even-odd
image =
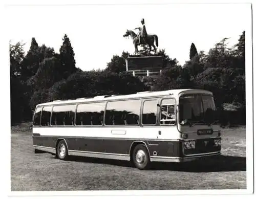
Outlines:
[{"label": "blank white sky above the trees and statue", "polygon": [[[224,37],[229,46],[248,29],[249,4],[165,4],[165,5],[69,5],[7,6],[8,37],[11,43],[31,38],[59,52],[66,33],[75,53],[76,67],[83,71],[104,69],[113,55],[135,49],[131,38],[122,35],[144,18],[148,34],[156,34],[159,49],[183,65],[189,60],[192,42],[206,53]],[[20,23],[19,21],[22,21]],[[134,30],[135,32],[137,30]],[[136,32],[137,33],[137,32]]]}]

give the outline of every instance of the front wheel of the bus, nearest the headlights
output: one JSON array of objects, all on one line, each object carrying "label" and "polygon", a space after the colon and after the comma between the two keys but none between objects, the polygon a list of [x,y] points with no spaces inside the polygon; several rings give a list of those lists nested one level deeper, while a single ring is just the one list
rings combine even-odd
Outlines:
[{"label": "front wheel of the bus, nearest the headlights", "polygon": [[133,150],[133,163],[140,170],[150,167],[150,156],[144,144],[138,144]]}]

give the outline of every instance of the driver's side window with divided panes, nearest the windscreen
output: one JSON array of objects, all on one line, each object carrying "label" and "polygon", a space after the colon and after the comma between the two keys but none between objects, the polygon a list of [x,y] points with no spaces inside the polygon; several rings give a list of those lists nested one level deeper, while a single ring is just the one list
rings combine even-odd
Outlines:
[{"label": "driver's side window with divided panes, nearest the windscreen", "polygon": [[161,103],[161,117],[160,124],[174,125],[176,123],[175,117],[175,100],[163,99]]}]

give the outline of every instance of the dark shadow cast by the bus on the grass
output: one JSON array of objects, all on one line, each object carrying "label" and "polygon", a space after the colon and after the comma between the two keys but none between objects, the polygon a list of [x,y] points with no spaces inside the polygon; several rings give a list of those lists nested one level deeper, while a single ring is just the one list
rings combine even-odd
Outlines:
[{"label": "dark shadow cast by the bus on the grass", "polygon": [[[109,164],[122,167],[134,167],[128,161],[88,158],[88,157],[69,157],[69,161]],[[246,158],[235,156],[211,157],[203,160],[185,163],[152,162],[150,170],[169,170],[185,172],[221,172],[221,171],[246,171]]]}]

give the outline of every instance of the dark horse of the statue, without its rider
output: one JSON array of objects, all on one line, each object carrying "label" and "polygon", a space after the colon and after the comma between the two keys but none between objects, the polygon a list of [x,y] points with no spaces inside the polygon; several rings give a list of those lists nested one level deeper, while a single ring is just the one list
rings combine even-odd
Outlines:
[{"label": "dark horse of the statue, without its rider", "polygon": [[[158,47],[158,36],[157,35],[147,35],[146,38],[145,38],[145,41],[146,42],[141,42],[139,43],[139,37],[138,35],[133,32],[132,30],[127,30],[126,33],[123,35],[123,37],[127,37],[127,36],[131,36],[132,39],[133,39],[133,45],[135,47],[135,55],[137,53],[137,55],[139,54],[139,51],[138,51],[138,45],[148,45],[150,47],[150,52],[151,52],[151,47],[153,46],[154,48],[154,51],[156,53],[156,46]],[[154,45],[154,42],[156,40],[156,46]]]}]

